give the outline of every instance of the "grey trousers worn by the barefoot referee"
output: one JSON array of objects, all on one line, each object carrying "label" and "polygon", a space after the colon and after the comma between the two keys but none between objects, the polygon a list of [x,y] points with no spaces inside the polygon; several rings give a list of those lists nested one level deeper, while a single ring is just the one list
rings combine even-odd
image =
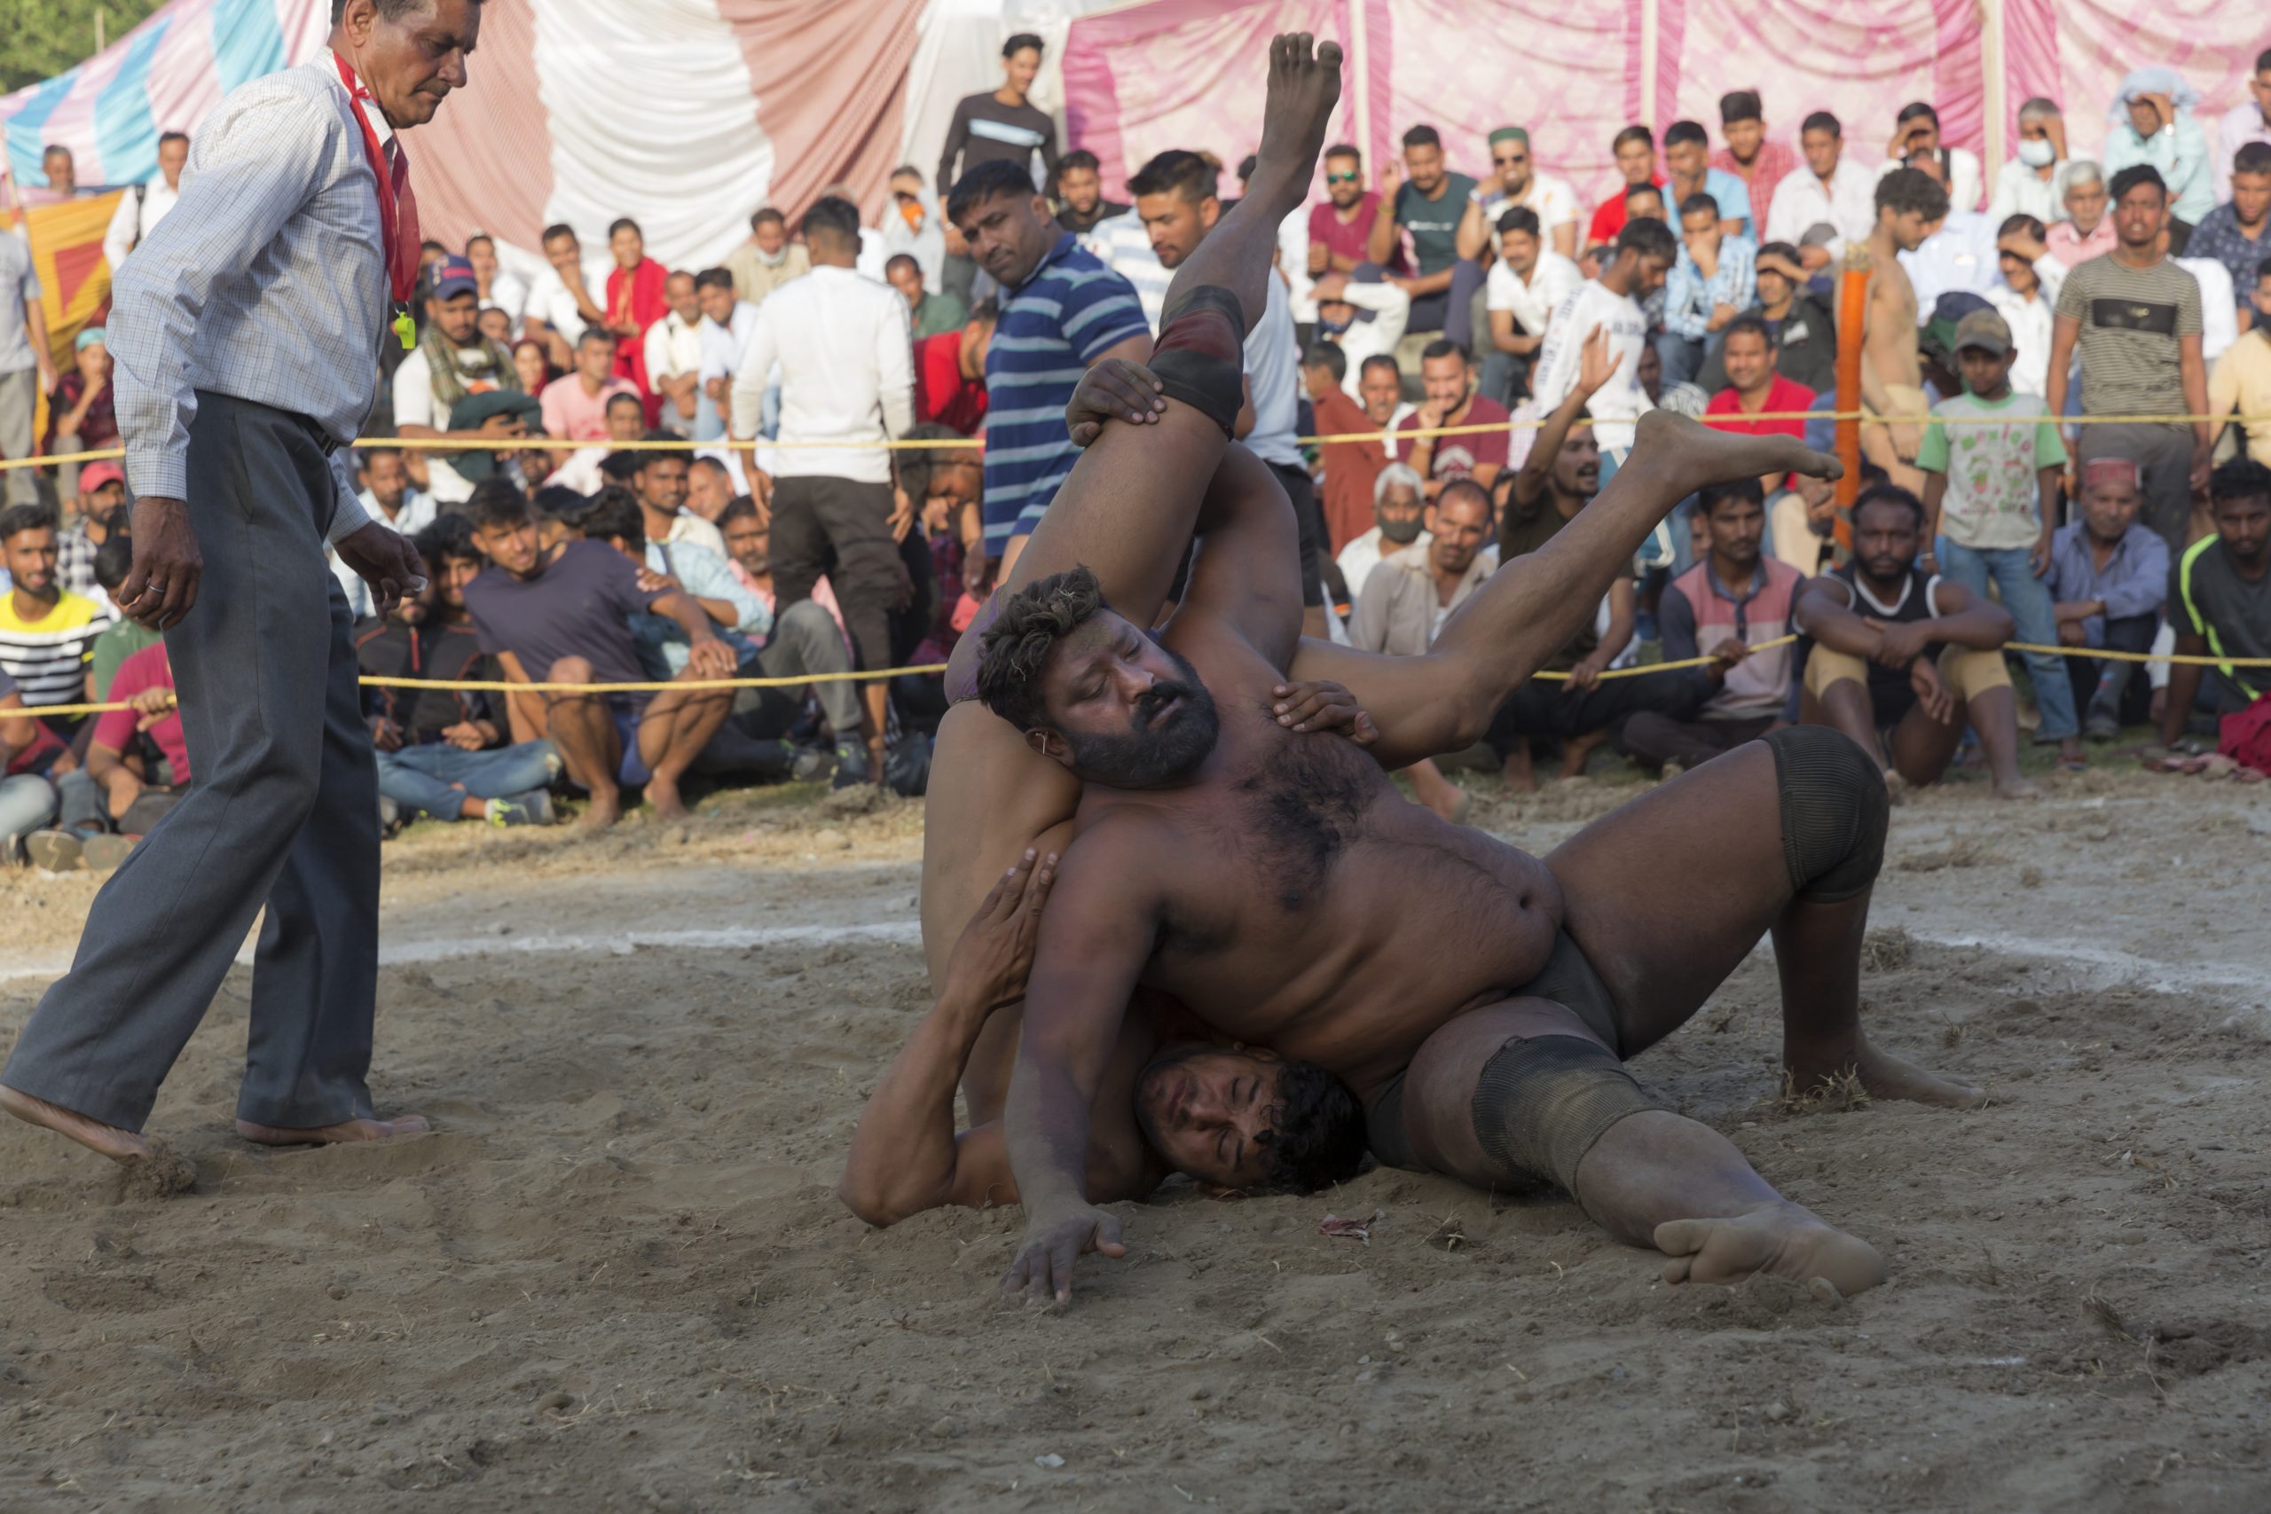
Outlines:
[{"label": "grey trousers worn by the barefoot referee", "polygon": [[347,599],[325,565],[332,463],[300,415],[198,393],[198,608],[166,631],[191,788],[95,894],[70,974],[0,1083],[141,1130],[266,903],[236,1117],[368,1117],[379,776]]}]

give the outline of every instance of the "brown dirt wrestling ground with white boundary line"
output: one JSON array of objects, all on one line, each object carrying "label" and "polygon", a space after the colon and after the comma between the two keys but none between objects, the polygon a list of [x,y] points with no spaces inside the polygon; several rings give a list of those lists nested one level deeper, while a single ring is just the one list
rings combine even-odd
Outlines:
[{"label": "brown dirt wrestling ground with white boundary line", "polygon": [[[1894,813],[1867,1024],[1978,1115],[1783,1108],[1765,949],[1637,1065],[1887,1253],[1842,1307],[1394,1171],[1170,1189],[1070,1312],[997,1307],[1017,1212],[831,1194],[927,1003],[920,824],[413,833],[375,1085],[434,1135],[238,1144],[243,969],[152,1121],[191,1192],[0,1128],[0,1509],[2271,1507],[2262,790]],[[0,1044],[89,897],[0,881]]]}]

